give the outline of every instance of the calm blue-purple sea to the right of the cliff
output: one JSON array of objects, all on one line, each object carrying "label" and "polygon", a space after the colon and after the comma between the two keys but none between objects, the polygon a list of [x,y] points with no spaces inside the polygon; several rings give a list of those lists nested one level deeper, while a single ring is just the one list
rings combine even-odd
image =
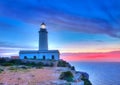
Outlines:
[{"label": "calm blue-purple sea to the right of the cliff", "polygon": [[70,62],[77,71],[87,72],[92,85],[120,85],[120,62]]}]

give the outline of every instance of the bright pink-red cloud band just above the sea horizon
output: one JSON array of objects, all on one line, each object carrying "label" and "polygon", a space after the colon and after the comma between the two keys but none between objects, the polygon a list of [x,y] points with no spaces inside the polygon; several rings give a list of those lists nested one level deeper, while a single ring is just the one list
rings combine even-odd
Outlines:
[{"label": "bright pink-red cloud band just above the sea horizon", "polygon": [[68,61],[110,61],[120,62],[120,51],[104,53],[63,53],[61,58]]}]

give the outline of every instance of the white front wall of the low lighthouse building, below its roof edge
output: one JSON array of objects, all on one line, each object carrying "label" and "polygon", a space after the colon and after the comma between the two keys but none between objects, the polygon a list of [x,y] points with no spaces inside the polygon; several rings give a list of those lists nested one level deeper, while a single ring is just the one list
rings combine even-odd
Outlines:
[{"label": "white front wall of the low lighthouse building, below its roof edge", "polygon": [[25,56],[27,59],[34,59],[34,56],[36,56],[36,59],[43,59],[43,56],[45,60],[52,59],[52,56],[54,56],[54,60],[59,60],[59,53],[25,53],[20,54],[20,59],[24,59]]}]

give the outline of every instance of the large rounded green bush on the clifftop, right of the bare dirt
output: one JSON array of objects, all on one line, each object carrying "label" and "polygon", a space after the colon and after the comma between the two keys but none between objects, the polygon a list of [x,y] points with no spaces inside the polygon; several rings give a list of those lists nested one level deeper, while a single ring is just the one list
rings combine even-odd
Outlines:
[{"label": "large rounded green bush on the clifftop, right of the bare dirt", "polygon": [[71,82],[73,81],[73,74],[71,71],[62,72],[59,79]]}]

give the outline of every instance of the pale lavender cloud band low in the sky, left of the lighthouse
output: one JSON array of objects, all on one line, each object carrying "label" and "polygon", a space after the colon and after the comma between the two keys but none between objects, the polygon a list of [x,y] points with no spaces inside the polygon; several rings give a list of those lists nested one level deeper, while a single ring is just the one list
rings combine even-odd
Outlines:
[{"label": "pale lavender cloud band low in the sky, left of the lighthouse", "polygon": [[32,46],[17,45],[15,43],[0,41],[0,56],[19,55],[20,50],[36,50]]}]

